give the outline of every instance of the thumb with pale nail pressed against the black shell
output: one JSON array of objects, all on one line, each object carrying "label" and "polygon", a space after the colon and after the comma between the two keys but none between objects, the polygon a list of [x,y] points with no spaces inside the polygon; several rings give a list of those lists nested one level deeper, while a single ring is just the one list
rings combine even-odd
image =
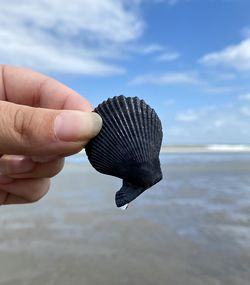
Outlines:
[{"label": "thumb with pale nail pressed against the black shell", "polygon": [[0,154],[67,155],[101,129],[96,113],[51,110],[0,101]]}]

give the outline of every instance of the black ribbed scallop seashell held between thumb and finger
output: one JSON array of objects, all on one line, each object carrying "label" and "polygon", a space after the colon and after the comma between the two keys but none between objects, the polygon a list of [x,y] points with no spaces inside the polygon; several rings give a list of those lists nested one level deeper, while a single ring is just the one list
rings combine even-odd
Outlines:
[{"label": "black ribbed scallop seashell held between thumb and finger", "polygon": [[116,193],[122,207],[162,179],[159,152],[162,127],[156,112],[137,97],[118,96],[98,105],[100,133],[86,146],[92,166],[123,179]]}]

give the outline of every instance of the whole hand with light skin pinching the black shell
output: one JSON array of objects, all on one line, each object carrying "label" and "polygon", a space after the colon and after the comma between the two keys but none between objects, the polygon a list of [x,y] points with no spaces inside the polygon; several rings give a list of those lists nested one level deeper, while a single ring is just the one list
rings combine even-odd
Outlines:
[{"label": "whole hand with light skin pinching the black shell", "polygon": [[64,157],[101,129],[90,104],[54,79],[0,65],[0,205],[35,202]]}]

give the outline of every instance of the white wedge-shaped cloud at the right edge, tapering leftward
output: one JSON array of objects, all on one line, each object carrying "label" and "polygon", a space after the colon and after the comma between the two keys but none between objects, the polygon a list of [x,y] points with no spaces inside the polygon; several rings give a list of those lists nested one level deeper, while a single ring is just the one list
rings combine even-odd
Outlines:
[{"label": "white wedge-shaped cloud at the right edge, tapering leftward", "polygon": [[238,71],[250,71],[250,38],[221,51],[204,55],[200,62],[205,65],[218,65],[234,68]]}]

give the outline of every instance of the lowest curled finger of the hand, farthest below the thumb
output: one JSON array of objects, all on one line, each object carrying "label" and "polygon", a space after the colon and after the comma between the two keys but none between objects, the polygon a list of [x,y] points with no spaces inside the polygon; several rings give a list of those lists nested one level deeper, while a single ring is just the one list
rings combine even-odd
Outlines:
[{"label": "lowest curled finger of the hand, farthest below the thumb", "polygon": [[[33,203],[40,200],[49,190],[49,178],[16,179],[8,184],[0,184],[2,204]],[[8,193],[4,194],[3,193]]]}]

